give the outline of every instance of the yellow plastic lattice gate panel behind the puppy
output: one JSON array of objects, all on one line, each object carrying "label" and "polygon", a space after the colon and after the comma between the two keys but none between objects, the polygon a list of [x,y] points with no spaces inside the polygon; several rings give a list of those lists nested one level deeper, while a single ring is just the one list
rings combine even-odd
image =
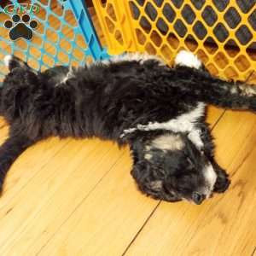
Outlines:
[{"label": "yellow plastic lattice gate panel behind the puppy", "polygon": [[148,51],[172,65],[180,49],[212,73],[245,79],[256,64],[255,1],[94,0],[110,54]]}]

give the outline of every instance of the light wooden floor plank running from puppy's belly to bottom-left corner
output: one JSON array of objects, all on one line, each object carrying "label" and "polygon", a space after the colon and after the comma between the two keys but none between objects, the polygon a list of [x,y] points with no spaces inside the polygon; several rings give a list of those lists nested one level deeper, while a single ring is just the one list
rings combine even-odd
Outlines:
[{"label": "light wooden floor plank running from puppy's belly to bottom-left corner", "polygon": [[[20,195],[4,206],[1,212],[7,214],[0,216],[4,234],[0,235],[0,254],[35,255],[121,154],[113,143],[72,140],[33,177]],[[15,221],[10,226],[12,219]]]}]

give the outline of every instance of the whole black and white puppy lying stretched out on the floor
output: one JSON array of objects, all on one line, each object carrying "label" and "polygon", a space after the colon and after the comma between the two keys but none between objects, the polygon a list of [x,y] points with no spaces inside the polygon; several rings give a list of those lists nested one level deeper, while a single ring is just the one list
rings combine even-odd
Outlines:
[{"label": "whole black and white puppy lying stretched out on the floor", "polygon": [[201,204],[228,188],[213,157],[205,108],[255,111],[253,87],[213,78],[187,51],[177,55],[174,68],[140,54],[42,73],[15,56],[4,61],[9,74],[0,90],[0,114],[10,130],[0,148],[1,189],[15,159],[51,136],[128,143],[131,175],[155,199]]}]

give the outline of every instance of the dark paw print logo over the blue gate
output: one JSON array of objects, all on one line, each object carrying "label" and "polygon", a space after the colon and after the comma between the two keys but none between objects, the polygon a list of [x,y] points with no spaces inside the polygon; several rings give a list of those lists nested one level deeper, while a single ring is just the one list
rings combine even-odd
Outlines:
[{"label": "dark paw print logo over the blue gate", "polygon": [[19,38],[25,38],[27,40],[32,39],[32,29],[38,27],[37,20],[30,20],[29,15],[23,15],[20,20],[20,15],[13,15],[12,20],[5,20],[3,26],[9,28],[9,38],[16,40]]}]

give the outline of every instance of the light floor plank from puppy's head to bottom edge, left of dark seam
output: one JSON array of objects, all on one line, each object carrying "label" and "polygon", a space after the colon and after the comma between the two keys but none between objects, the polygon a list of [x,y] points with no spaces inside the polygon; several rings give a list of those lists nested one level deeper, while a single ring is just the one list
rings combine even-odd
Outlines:
[{"label": "light floor plank from puppy's head to bottom edge, left of dark seam", "polygon": [[158,204],[131,179],[128,149],[39,255],[121,255]]}]

